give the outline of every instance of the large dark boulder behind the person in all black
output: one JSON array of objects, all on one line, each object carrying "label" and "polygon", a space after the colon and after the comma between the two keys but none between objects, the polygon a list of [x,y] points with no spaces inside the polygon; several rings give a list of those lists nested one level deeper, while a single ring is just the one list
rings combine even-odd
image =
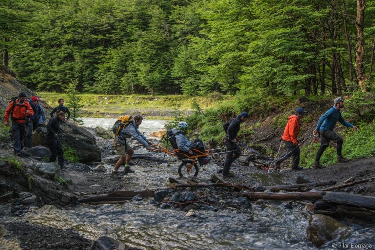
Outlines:
[{"label": "large dark boulder behind the person in all black", "polygon": [[[47,129],[39,127],[33,132],[33,146],[47,146]],[[62,145],[74,149],[82,162],[101,161],[101,152],[96,145],[94,135],[82,127],[71,123],[60,125],[59,138]]]}]

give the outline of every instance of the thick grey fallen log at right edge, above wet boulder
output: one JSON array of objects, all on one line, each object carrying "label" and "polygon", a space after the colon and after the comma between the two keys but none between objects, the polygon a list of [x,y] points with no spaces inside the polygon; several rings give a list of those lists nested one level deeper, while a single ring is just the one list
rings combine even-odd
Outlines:
[{"label": "thick grey fallen log at right edge, above wet boulder", "polygon": [[346,192],[326,192],[324,201],[349,204],[358,207],[375,209],[375,197],[363,196]]}]

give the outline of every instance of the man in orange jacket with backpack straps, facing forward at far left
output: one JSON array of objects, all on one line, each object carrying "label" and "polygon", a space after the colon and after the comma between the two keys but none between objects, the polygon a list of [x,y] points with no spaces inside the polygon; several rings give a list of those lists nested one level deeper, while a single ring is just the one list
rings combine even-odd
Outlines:
[{"label": "man in orange jacket with backpack straps, facing forward at far left", "polygon": [[26,101],[25,93],[20,93],[18,99],[11,101],[4,113],[5,125],[9,126],[9,118],[12,121],[12,137],[14,154],[23,156],[21,141],[26,133],[26,117],[34,114],[30,104]]}]

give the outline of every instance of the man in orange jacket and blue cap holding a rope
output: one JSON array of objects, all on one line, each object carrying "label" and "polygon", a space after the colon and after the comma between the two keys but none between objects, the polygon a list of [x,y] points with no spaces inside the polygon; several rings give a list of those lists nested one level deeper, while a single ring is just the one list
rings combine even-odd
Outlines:
[{"label": "man in orange jacket and blue cap holding a rope", "polygon": [[284,134],[281,137],[283,139],[285,146],[287,147],[287,153],[276,161],[276,168],[280,169],[281,162],[285,161],[293,155],[292,160],[292,170],[302,170],[303,168],[299,166],[299,143],[297,140],[299,134],[299,119],[302,118],[303,114],[307,113],[303,108],[298,108],[294,115],[288,117],[287,126],[285,126]]}]

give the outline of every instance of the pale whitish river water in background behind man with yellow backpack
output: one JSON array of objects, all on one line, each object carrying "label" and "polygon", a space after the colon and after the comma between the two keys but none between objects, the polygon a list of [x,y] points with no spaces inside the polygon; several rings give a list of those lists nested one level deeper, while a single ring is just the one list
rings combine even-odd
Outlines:
[{"label": "pale whitish river water in background behind man with yellow backpack", "polygon": [[[103,129],[112,129],[116,118],[82,118],[82,120],[83,126],[87,128],[96,128],[99,126]],[[164,129],[166,122],[167,120],[143,119],[142,124],[139,126],[139,131],[145,133],[145,135],[150,135],[151,132]]]}]

